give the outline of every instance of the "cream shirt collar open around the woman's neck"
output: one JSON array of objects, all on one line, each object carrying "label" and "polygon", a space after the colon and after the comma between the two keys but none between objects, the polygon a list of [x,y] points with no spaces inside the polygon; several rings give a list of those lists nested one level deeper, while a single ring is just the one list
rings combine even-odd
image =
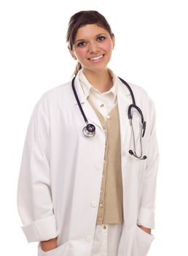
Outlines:
[{"label": "cream shirt collar open around the woman's neck", "polygon": [[87,98],[88,96],[90,96],[90,91],[93,90],[95,92],[98,92],[99,94],[109,94],[111,93],[114,97],[114,101],[116,100],[117,97],[117,76],[114,74],[114,72],[112,72],[111,69],[108,69],[112,81],[113,81],[113,86],[111,87],[111,89],[109,91],[103,92],[101,93],[100,91],[98,91],[98,89],[95,89],[92,84],[89,83],[89,81],[87,80],[87,78],[85,77],[82,69],[79,70],[79,82],[82,86],[82,89],[84,91],[85,97]]}]

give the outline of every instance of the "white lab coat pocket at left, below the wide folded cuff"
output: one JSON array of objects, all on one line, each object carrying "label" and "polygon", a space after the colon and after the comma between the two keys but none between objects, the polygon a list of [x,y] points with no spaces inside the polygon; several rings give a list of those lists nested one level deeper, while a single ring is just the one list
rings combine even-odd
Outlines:
[{"label": "white lab coat pocket at left, below the wide folded cuff", "polygon": [[69,249],[69,244],[68,242],[66,242],[65,244],[62,244],[55,249],[52,249],[48,252],[44,252],[39,244],[38,256],[68,256],[68,249]]}]

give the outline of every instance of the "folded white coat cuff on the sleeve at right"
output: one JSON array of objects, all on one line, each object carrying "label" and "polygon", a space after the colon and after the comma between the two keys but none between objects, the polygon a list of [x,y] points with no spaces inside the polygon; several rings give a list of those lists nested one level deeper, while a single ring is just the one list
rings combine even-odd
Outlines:
[{"label": "folded white coat cuff on the sleeve at right", "polygon": [[154,229],[154,211],[149,208],[140,208],[138,214],[138,225]]}]

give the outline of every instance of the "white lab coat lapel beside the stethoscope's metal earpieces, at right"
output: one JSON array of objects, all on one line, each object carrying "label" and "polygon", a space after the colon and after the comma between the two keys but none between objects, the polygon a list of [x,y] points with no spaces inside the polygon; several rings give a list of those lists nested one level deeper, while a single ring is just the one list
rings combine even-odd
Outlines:
[{"label": "white lab coat lapel beside the stethoscope's metal earpieces, at right", "polygon": [[128,107],[132,104],[132,98],[127,87],[121,82],[117,87],[117,102],[120,116],[120,135],[122,156],[128,155],[130,149],[131,130],[128,119]]}]

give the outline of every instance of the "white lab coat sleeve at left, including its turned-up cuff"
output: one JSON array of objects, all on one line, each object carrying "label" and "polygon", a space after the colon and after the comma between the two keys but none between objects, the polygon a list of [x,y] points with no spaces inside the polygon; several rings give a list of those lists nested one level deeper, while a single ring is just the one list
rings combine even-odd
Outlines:
[{"label": "white lab coat sleeve at left, including its turned-up cuff", "polygon": [[38,103],[28,125],[17,188],[17,208],[28,242],[58,236],[50,191],[49,140],[50,124]]}]

